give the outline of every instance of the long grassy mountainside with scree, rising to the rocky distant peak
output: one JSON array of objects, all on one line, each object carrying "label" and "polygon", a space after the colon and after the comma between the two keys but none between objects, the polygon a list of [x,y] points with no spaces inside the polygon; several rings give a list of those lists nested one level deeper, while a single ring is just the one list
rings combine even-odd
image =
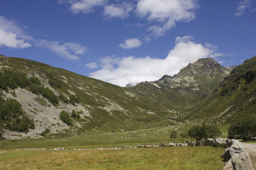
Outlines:
[{"label": "long grassy mountainside with scree, rising to the rocky distant peak", "polygon": [[0,56],[0,70],[1,134],[19,139],[173,125],[182,120],[180,111],[210,96],[232,69],[204,58],[177,75],[134,87],[23,58]]}]

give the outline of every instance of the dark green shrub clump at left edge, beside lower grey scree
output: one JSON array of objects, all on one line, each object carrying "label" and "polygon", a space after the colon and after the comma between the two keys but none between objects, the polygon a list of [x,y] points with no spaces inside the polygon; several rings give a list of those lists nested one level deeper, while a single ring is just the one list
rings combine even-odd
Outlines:
[{"label": "dark green shrub clump at left edge, beside lower grey scree", "polygon": [[0,119],[10,130],[24,132],[29,128],[35,129],[34,121],[23,112],[21,104],[15,99],[5,100],[0,96]]}]

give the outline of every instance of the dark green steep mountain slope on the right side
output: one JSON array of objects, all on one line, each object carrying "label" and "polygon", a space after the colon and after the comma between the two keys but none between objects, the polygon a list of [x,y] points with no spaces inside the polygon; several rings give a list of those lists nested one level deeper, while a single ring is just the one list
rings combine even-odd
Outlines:
[{"label": "dark green steep mountain slope on the right side", "polygon": [[188,120],[230,124],[256,115],[256,56],[246,59],[224,78],[213,94],[195,107],[181,111]]}]

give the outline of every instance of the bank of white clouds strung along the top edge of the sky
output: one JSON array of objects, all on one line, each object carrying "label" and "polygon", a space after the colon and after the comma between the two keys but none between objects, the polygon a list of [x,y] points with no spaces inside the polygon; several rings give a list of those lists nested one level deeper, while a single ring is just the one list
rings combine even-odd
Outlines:
[{"label": "bank of white clouds strung along the top edge of the sky", "polygon": [[[197,0],[138,0],[115,1],[108,5],[107,0],[59,0],[68,3],[69,11],[77,14],[93,12],[96,7],[103,7],[104,19],[126,18],[131,12],[147,20],[148,36],[163,36],[176,26],[176,22],[189,22],[195,19],[195,10],[199,8]],[[102,10],[102,9],[101,9]]]}]

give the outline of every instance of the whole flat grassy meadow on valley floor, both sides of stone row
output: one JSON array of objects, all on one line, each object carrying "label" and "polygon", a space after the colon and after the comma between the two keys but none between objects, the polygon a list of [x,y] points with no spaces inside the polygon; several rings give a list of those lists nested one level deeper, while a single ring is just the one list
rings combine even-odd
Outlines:
[{"label": "whole flat grassy meadow on valley floor, both sides of stone row", "polygon": [[[224,148],[220,147],[99,149],[122,145],[134,147],[138,144],[168,144],[172,142],[169,133],[170,129],[166,127],[120,133],[92,133],[79,137],[1,141],[0,169],[222,169],[224,167],[224,162],[220,158]],[[182,141],[181,138],[175,139],[175,143]],[[185,141],[191,139],[187,138]],[[58,147],[67,150],[50,150]],[[36,150],[23,150],[23,148]],[[74,150],[74,148],[82,150]]]}]

